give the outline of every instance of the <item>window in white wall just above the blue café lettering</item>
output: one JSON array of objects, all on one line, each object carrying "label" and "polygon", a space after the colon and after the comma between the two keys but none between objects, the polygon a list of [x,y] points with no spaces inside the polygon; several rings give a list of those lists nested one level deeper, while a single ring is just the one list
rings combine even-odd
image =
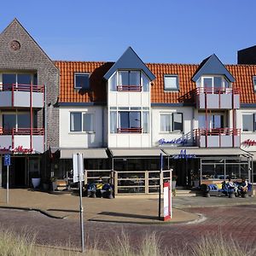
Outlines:
[{"label": "window in white wall just above the blue caf\u00e9 lettering", "polygon": [[183,113],[160,113],[160,131],[183,131]]}]

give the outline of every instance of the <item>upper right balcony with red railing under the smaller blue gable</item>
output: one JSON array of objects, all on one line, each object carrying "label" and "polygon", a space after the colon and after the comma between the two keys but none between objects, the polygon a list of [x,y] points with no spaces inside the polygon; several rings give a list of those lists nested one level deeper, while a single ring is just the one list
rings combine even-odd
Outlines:
[{"label": "upper right balcony with red railing under the smaller blue gable", "polygon": [[240,108],[239,90],[232,88],[196,88],[196,108],[199,109],[237,109]]}]

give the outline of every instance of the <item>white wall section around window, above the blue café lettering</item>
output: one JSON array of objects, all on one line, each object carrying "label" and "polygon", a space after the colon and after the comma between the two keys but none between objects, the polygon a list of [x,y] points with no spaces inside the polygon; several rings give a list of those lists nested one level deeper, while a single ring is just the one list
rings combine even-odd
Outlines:
[{"label": "white wall section around window, above the blue caf\u00e9 lettering", "polygon": [[[192,107],[153,107],[151,108],[151,119],[152,119],[152,147],[159,145],[160,139],[165,141],[177,140],[180,138],[186,138],[189,144],[193,143],[193,119],[194,109]],[[160,132],[160,113],[183,113],[183,132]],[[188,145],[189,145],[188,144]],[[177,144],[176,144],[177,145]],[[172,146],[166,144],[166,147]]]}]

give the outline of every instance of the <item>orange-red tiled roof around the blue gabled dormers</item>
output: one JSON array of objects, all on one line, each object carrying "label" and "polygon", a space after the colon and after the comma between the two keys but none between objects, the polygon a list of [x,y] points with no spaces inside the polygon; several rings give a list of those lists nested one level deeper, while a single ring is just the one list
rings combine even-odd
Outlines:
[{"label": "orange-red tiled roof around the blue gabled dormers", "polygon": [[[151,86],[152,103],[178,103],[190,90],[195,89],[195,82],[191,79],[199,65],[189,64],[157,64],[148,63],[148,68],[156,79]],[[60,69],[60,99],[59,102],[107,102],[106,84],[103,79],[113,62],[92,61],[55,61]],[[240,89],[241,103],[256,103],[253,90],[253,75],[256,76],[256,65],[226,65],[236,79],[233,88]],[[90,73],[90,91],[74,90],[73,73]],[[177,74],[179,79],[178,91],[164,90],[164,75]]]}]

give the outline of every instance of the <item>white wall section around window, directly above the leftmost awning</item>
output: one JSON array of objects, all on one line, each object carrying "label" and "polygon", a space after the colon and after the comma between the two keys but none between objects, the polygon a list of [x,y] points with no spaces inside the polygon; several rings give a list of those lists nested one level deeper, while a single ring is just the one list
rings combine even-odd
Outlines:
[{"label": "white wall section around window, directly above the leftmost awning", "polygon": [[[70,112],[94,114],[94,132],[71,132]],[[96,148],[103,146],[103,107],[61,107],[60,108],[60,147]]]}]

